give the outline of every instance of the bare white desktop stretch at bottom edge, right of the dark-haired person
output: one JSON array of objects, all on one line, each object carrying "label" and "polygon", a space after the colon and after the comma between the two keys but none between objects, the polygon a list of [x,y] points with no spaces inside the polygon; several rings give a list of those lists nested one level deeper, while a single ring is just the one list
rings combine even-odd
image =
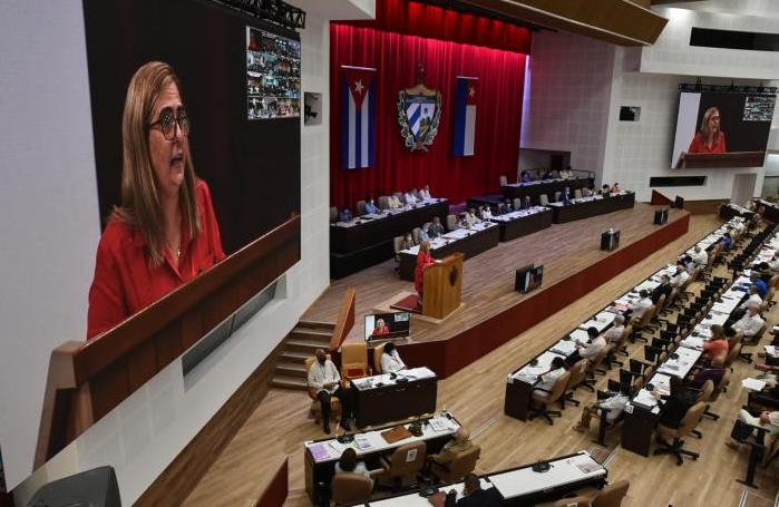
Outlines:
[{"label": "bare white desktop stretch at bottom edge, right of the dark-haired person", "polygon": [[504,499],[512,499],[606,475],[606,469],[586,451],[569,458],[549,461],[549,470],[545,472],[536,472],[533,471],[533,467],[524,467],[491,475],[489,481],[498,489]]}]

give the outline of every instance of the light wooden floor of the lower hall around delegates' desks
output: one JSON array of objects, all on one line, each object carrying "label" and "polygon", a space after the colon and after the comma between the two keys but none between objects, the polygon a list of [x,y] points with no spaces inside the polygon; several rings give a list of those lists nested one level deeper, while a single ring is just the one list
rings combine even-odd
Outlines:
[{"label": "light wooden floor of the lower hall around delegates' desks", "polygon": [[[481,446],[483,454],[477,472],[499,470],[541,458],[590,449],[593,446],[591,439],[595,437],[594,429],[590,435],[572,429],[581,413],[581,409],[575,407],[568,407],[563,418],[557,419],[553,427],[541,420],[522,422],[504,416],[506,374],[658,267],[675,260],[682,250],[718,224],[713,215],[691,217],[690,231],[684,236],[595,289],[566,310],[546,319],[439,383],[438,409],[451,410],[471,429],[474,441]],[[480,257],[469,262],[478,262]],[[552,261],[549,257],[547,263]],[[380,269],[381,266],[378,266],[374,270]],[[358,306],[358,314],[364,312],[370,304],[364,302],[366,294],[362,294],[361,299],[361,302],[358,300],[361,304]],[[318,312],[320,319],[332,319],[333,314],[327,314],[324,310]],[[777,322],[777,318],[779,305],[769,313],[771,322]],[[637,357],[637,352],[633,351],[632,355]],[[689,448],[700,450],[701,458],[698,461],[685,460],[683,466],[676,467],[671,457],[644,458],[615,446],[616,435],[608,436],[608,442],[615,448],[613,457],[606,464],[608,478],[624,478],[631,481],[631,489],[623,506],[739,505],[744,487],[733,479],[743,474],[747,450],[733,451],[724,446],[724,441],[738,409],[746,402],[747,393],[742,390],[740,380],[752,372],[751,365],[743,362],[736,364],[731,389],[712,407],[713,411],[722,416],[721,419],[702,421],[702,440],[687,440]],[[614,378],[615,372],[612,372],[611,377]],[[605,378],[601,378],[601,382],[598,388],[605,383]],[[576,397],[584,404],[592,402],[594,398],[586,391],[577,393]],[[308,408],[309,398],[305,393],[272,390],[192,491],[186,504],[254,505],[281,460],[289,456],[290,497],[285,505],[310,505],[303,486],[302,442],[321,438],[322,432],[313,422],[306,420]],[[768,472],[760,470],[757,477],[761,489],[754,494],[770,499],[769,505],[772,505],[777,495],[778,468],[775,464]]]}]

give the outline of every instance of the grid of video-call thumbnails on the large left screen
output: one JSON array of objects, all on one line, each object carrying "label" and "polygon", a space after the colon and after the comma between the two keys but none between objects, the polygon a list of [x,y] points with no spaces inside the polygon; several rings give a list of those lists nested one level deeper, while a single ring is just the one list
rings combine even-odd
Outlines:
[{"label": "grid of video-call thumbnails on the large left screen", "polygon": [[249,119],[300,117],[300,41],[246,27]]}]

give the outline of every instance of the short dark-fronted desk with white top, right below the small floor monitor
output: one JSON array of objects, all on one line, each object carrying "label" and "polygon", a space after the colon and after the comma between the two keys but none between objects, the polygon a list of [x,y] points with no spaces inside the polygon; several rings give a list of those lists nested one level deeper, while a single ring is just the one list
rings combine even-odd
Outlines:
[{"label": "short dark-fronted desk with white top, right below the small floor monitor", "polygon": [[428,368],[351,381],[357,390],[354,416],[358,428],[399,421],[436,411],[438,377]]}]

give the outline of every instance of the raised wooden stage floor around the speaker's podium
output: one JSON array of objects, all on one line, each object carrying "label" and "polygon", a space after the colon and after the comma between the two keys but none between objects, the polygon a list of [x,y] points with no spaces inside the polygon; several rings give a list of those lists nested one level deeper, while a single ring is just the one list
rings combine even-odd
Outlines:
[{"label": "raised wooden stage floor around the speaker's podium", "polygon": [[[584,267],[610,255],[600,250],[601,233],[608,227],[621,231],[621,245],[633,243],[655,232],[652,224],[656,206],[636,204],[624,209],[567,224],[554,224],[528,236],[499,243],[465,262],[462,269],[464,306],[442,324],[413,319],[411,342],[447,340],[464,326],[504,312],[518,301],[537,295],[514,291],[514,271],[526,264],[545,265],[544,285],[551,286]],[[669,222],[685,214],[671,209]],[[330,287],[303,314],[302,319],[332,322],[338,315],[347,287],[357,287],[356,315],[372,313],[374,306],[401,291],[413,292],[411,282],[395,275],[395,261],[369,267],[353,275],[333,281]],[[362,340],[363,324],[358,319],[348,340]]]}]

